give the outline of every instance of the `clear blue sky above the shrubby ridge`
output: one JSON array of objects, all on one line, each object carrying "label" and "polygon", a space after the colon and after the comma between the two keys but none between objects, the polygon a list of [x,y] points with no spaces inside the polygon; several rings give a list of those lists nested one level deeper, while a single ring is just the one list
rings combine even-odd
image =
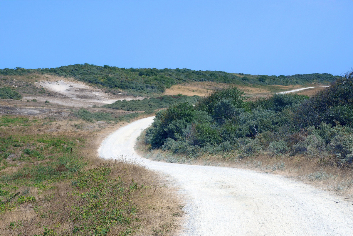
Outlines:
[{"label": "clear blue sky above the shrubby ridge", "polygon": [[341,75],[353,1],[1,1],[4,68]]}]

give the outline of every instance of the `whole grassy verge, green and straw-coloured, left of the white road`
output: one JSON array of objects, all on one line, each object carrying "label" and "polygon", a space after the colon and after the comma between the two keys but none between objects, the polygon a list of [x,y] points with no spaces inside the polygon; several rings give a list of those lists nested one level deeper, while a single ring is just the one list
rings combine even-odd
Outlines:
[{"label": "whole grassy verge, green and straw-coloured, left of the white road", "polygon": [[136,163],[98,158],[100,133],[62,122],[1,117],[1,235],[177,232],[172,188]]}]

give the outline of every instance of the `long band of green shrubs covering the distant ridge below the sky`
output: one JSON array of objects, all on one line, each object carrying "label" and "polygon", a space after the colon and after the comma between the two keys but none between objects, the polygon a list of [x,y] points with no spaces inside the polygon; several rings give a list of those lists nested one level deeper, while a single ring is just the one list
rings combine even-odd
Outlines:
[{"label": "long band of green shrubs covering the distant ridge below the sky", "polygon": [[130,94],[142,95],[162,93],[172,85],[192,81],[214,81],[232,84],[258,85],[294,85],[308,82],[332,82],[339,76],[331,74],[305,74],[291,76],[275,75],[244,75],[243,73],[227,73],[224,71],[201,71],[190,69],[125,69],[104,65],[75,64],[58,68],[44,69],[1,69],[1,75],[26,75],[30,73],[55,74],[64,77],[74,77],[77,80],[101,85],[113,91],[124,90]]}]

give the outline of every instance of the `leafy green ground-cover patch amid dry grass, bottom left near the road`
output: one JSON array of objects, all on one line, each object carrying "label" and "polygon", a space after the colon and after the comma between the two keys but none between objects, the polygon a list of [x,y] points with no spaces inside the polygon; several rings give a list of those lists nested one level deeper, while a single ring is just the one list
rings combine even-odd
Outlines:
[{"label": "leafy green ground-cover patch amid dry grass, bottom left near the road", "polygon": [[[70,229],[67,233],[107,235],[112,228],[120,228],[120,235],[129,235],[141,227],[138,209],[130,199],[131,193],[141,186],[132,181],[126,188],[122,178],[110,175],[111,171],[111,167],[102,165],[80,171],[79,177],[72,180],[68,204],[58,202],[68,215]],[[60,198],[53,200],[60,201]],[[54,220],[57,217],[52,212],[41,213]]]}]

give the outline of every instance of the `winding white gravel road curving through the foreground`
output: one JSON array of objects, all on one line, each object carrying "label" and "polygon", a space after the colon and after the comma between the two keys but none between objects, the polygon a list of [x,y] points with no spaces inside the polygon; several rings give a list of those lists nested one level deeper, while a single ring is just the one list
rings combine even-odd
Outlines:
[{"label": "winding white gravel road curving through the foreground", "polygon": [[98,153],[136,159],[177,185],[187,201],[182,235],[353,235],[352,203],[312,186],[273,174],[138,156],[136,138],[152,120],[118,129]]}]

